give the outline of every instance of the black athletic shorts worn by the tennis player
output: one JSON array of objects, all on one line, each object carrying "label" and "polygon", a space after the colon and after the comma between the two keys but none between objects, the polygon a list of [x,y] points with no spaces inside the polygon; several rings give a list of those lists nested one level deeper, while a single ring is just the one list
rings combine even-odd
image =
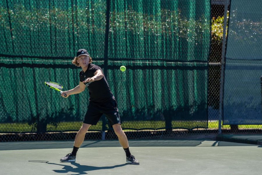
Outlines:
[{"label": "black athletic shorts worn by the tennis player", "polygon": [[96,125],[100,117],[105,114],[111,126],[117,123],[121,124],[118,108],[116,106],[115,99],[111,99],[103,104],[95,104],[90,101],[83,123]]}]

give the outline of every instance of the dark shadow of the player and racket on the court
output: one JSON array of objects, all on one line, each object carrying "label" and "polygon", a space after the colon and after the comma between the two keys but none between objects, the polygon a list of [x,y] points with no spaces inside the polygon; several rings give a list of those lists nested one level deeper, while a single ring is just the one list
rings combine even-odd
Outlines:
[{"label": "dark shadow of the player and racket on the court", "polygon": [[[36,162],[36,161],[29,160],[29,162]],[[88,165],[81,165],[81,164],[76,163],[76,162],[70,162],[71,165],[75,166],[75,167],[72,167],[70,165],[50,163],[48,161],[39,160],[38,162],[63,166],[63,168],[61,168],[61,169],[54,169],[52,171],[54,171],[56,173],[68,173],[68,172],[78,173],[78,174],[74,174],[74,175],[88,174],[85,171],[93,171],[93,170],[99,170],[99,169],[113,169],[113,168],[116,168],[116,167],[123,167],[123,166],[129,164],[129,163],[125,163],[125,164],[114,165],[114,166],[109,166],[109,167],[94,167],[94,166],[88,166]]]}]

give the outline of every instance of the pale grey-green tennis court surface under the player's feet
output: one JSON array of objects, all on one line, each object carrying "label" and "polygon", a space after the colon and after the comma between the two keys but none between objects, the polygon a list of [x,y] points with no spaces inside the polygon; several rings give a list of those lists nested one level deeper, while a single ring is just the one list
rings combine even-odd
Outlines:
[{"label": "pale grey-green tennis court surface under the player's feet", "polygon": [[130,140],[130,151],[140,162],[132,165],[125,162],[118,141],[84,141],[76,162],[60,162],[72,151],[72,144],[73,141],[1,142],[0,174],[262,174],[260,145],[211,140]]}]

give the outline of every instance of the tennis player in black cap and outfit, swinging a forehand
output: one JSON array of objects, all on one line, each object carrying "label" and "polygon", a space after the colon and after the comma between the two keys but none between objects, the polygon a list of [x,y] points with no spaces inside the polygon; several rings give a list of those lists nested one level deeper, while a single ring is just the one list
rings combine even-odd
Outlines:
[{"label": "tennis player in black cap and outfit, swinging a forehand", "polygon": [[[125,150],[126,162],[139,165],[137,159],[135,159],[129,151],[128,139],[121,128],[116,100],[107,84],[102,69],[91,63],[92,58],[89,57],[87,51],[85,49],[79,49],[77,51],[77,56],[72,60],[72,64],[82,68],[79,73],[79,85],[61,94],[61,97],[68,98],[70,95],[83,92],[87,87],[90,98],[83,125],[75,137],[73,151],[60,160],[62,162],[75,162],[77,150],[83,143],[88,128],[91,125],[96,125],[102,114],[105,114],[109,124],[113,127],[114,132],[118,136],[121,146]],[[65,97],[64,94],[67,96]]]}]

